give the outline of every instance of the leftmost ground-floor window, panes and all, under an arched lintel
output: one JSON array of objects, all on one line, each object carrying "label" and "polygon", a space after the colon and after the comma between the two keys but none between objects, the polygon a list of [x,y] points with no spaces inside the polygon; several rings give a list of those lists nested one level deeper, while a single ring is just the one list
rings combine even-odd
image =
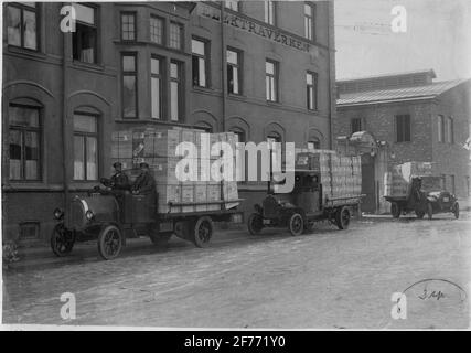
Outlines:
[{"label": "leftmost ground-floor window, panes and all, under an arched lintel", "polygon": [[10,105],[10,180],[41,179],[40,109]]}]

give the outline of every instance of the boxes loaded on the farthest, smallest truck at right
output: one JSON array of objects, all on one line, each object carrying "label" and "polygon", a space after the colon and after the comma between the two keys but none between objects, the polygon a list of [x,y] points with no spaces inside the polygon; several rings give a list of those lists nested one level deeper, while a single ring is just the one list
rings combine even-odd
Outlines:
[{"label": "boxes loaded on the farthest, smallest truck at right", "polygon": [[393,165],[386,173],[385,196],[407,196],[411,178],[420,175],[431,175],[431,163],[413,161]]}]

